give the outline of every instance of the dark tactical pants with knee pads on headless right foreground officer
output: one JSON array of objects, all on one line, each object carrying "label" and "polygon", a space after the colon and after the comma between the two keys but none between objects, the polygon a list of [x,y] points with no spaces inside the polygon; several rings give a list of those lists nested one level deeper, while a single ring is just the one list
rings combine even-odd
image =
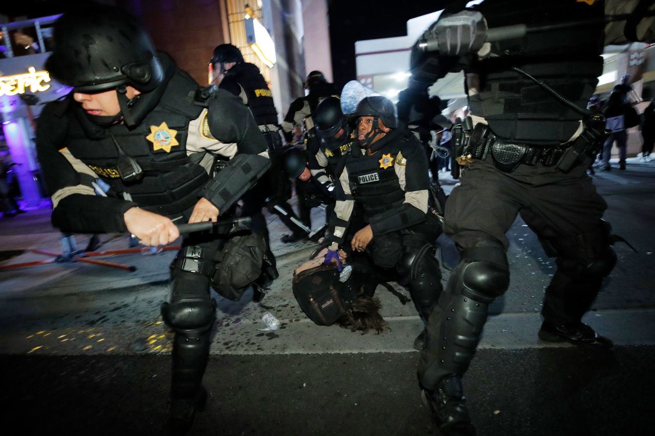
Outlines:
[{"label": "dark tactical pants with knee pads on headless right foreground officer", "polygon": [[[477,347],[487,307],[509,284],[505,236],[516,215],[540,238],[557,270],[546,290],[542,315],[553,325],[580,322],[611,268],[607,208],[580,164],[569,173],[521,164],[513,173],[475,160],[446,204],[445,233],[462,260],[435,310],[419,362],[419,380],[433,389],[446,376],[462,375]],[[615,260],[615,258],[614,258]],[[599,271],[595,266],[605,269]]]}]

